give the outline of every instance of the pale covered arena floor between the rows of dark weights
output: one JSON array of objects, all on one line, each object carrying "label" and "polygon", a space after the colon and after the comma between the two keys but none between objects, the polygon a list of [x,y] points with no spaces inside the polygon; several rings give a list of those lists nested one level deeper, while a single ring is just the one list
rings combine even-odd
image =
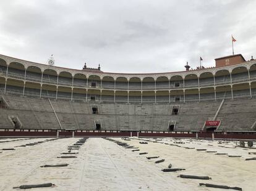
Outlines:
[{"label": "pale covered arena floor between the rows of dark weights", "polygon": [[[57,139],[27,147],[17,146],[46,138],[0,139],[0,190],[15,190],[12,187],[46,182],[52,182],[55,186],[30,190],[223,190],[200,187],[200,182],[256,190],[256,160],[245,161],[245,158],[256,156],[248,154],[256,152],[255,147],[241,148],[236,147],[236,142],[220,144],[210,140],[112,138],[139,147],[139,151],[132,152],[133,149],[121,147],[106,139],[89,138],[79,150],[73,150],[79,152],[75,154],[77,158],[57,158],[63,156],[62,152],[67,152],[67,146],[79,139]],[[3,142],[10,140],[15,141]],[[139,143],[145,140],[154,142]],[[148,154],[139,155],[140,152]],[[147,156],[160,157],[148,160]],[[155,164],[160,159],[164,159],[164,162]],[[58,163],[69,163],[69,166],[40,168],[42,165]],[[173,168],[186,170],[168,173],[161,171],[168,168],[170,163]],[[179,174],[209,176],[212,179],[182,179],[177,177]]]}]

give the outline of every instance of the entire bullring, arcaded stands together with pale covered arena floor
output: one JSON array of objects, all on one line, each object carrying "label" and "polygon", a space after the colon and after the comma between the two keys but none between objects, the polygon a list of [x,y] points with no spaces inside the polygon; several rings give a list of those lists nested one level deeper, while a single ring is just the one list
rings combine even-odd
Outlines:
[{"label": "entire bullring, arcaded stands together with pale covered arena floor", "polygon": [[256,60],[215,61],[126,74],[0,55],[0,190],[255,190]]}]

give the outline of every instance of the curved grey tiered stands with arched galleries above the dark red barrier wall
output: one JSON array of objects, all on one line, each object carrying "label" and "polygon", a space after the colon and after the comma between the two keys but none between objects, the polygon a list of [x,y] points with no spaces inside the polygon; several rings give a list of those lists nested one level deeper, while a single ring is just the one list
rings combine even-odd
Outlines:
[{"label": "curved grey tiered stands with arched galleries above the dark red barrier wall", "polygon": [[212,68],[125,74],[0,55],[0,100],[1,129],[254,132],[256,60],[238,54]]}]

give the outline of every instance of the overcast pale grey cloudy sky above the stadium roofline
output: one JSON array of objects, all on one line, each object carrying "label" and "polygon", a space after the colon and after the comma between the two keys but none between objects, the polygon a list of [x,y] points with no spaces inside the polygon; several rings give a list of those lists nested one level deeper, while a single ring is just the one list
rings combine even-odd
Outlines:
[{"label": "overcast pale grey cloudy sky above the stadium roofline", "polygon": [[0,1],[0,54],[56,66],[153,73],[256,57],[256,1]]}]

